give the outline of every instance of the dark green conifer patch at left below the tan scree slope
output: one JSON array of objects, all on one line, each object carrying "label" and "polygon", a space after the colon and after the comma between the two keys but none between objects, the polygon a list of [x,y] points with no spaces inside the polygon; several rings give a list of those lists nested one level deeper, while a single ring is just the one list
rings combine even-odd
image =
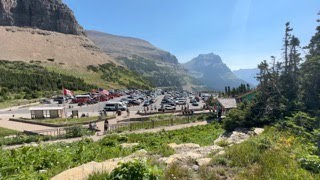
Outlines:
[{"label": "dark green conifer patch at left below the tan scree slope", "polygon": [[[46,68],[25,62],[0,60],[0,99],[6,100],[10,94],[18,94],[32,99],[44,92],[70,90],[90,90],[96,88],[86,84],[82,79],[50,72]],[[19,95],[20,94],[20,95]]]}]

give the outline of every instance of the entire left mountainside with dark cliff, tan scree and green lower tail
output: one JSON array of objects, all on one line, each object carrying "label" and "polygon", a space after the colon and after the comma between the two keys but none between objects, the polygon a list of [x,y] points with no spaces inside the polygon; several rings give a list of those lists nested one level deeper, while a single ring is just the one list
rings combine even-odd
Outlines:
[{"label": "entire left mountainside with dark cliff, tan scree and green lower tail", "polygon": [[0,0],[0,49],[0,60],[41,65],[97,87],[150,87],[87,38],[61,0]]}]

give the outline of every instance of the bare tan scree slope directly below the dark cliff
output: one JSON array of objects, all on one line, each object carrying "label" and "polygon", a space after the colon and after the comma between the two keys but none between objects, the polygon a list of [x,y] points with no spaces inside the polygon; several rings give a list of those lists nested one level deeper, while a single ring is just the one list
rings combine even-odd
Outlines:
[{"label": "bare tan scree slope directly below the dark cliff", "polygon": [[14,26],[0,26],[0,59],[40,61],[65,67],[113,62],[85,36]]}]

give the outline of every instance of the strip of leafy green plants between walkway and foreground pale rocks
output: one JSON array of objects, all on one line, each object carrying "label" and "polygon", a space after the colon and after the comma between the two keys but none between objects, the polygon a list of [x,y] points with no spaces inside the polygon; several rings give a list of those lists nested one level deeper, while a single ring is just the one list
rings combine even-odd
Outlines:
[{"label": "strip of leafy green plants between walkway and foreground pale rocks", "polygon": [[[127,156],[139,149],[146,149],[151,154],[168,156],[173,149],[168,143],[213,144],[223,132],[220,125],[191,127],[170,132],[110,135],[92,142],[83,140],[71,144],[41,145],[23,147],[16,150],[0,150],[0,174],[4,178],[38,179],[49,178],[68,168],[79,166],[90,161],[104,161],[110,158]],[[139,143],[133,149],[123,149],[121,143]],[[39,170],[47,170],[38,173]]]}]

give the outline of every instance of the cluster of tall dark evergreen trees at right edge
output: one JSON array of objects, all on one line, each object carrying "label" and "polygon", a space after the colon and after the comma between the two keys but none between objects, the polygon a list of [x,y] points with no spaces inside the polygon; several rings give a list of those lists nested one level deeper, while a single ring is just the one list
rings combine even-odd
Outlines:
[{"label": "cluster of tall dark evergreen trees at right edge", "polygon": [[254,101],[231,112],[227,129],[279,122],[300,111],[320,116],[320,25],[310,43],[301,47],[290,23],[286,23],[282,55],[258,65],[259,91]]}]

